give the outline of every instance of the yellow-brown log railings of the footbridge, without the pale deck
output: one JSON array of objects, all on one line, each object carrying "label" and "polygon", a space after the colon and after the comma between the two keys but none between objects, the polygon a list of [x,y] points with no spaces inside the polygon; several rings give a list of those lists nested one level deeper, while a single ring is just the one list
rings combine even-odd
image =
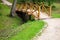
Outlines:
[{"label": "yellow-brown log railings of the footbridge, without the pale deck", "polygon": [[38,19],[40,17],[40,12],[45,12],[45,13],[48,14],[48,16],[51,16],[51,6],[47,6],[47,8],[46,8],[43,3],[40,6],[39,5],[35,5],[35,4],[30,4],[30,5],[28,5],[28,4],[17,4],[16,9],[19,10],[19,11],[22,10],[22,9],[27,10],[28,7],[32,11],[33,10],[37,10],[38,11]]}]

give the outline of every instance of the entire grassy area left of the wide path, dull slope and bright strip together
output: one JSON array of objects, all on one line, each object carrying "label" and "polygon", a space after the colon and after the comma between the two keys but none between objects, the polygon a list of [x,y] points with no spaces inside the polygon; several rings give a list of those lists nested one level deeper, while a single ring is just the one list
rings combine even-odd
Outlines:
[{"label": "entire grassy area left of the wide path, dull slope and bright strip together", "polygon": [[9,17],[10,8],[0,4],[0,40],[31,40],[43,27],[43,21],[28,21],[21,25],[17,16]]}]

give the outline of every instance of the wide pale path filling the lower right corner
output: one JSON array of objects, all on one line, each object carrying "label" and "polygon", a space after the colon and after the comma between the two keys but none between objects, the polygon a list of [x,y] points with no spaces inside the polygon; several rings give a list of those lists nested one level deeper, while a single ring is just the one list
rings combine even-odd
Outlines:
[{"label": "wide pale path filling the lower right corner", "polygon": [[48,27],[34,40],[60,40],[60,18],[45,19]]}]

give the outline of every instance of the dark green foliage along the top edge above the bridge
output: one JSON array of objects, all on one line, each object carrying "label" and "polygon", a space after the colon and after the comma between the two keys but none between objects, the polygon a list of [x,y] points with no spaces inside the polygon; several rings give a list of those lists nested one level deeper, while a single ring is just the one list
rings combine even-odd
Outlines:
[{"label": "dark green foliage along the top edge above the bridge", "polygon": [[17,0],[18,3],[36,3],[36,4],[40,4],[41,2],[47,3],[48,6],[52,5],[53,2],[55,2],[55,0]]}]

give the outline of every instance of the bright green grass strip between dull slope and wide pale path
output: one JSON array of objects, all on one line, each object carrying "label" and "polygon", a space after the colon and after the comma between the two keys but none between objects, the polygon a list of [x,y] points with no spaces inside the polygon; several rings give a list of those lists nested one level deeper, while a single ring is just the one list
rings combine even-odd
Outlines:
[{"label": "bright green grass strip between dull slope and wide pale path", "polygon": [[31,40],[36,33],[38,33],[43,28],[44,22],[43,21],[33,21],[28,22],[22,27],[26,27],[24,30],[20,31],[15,36],[9,38],[9,40]]}]

